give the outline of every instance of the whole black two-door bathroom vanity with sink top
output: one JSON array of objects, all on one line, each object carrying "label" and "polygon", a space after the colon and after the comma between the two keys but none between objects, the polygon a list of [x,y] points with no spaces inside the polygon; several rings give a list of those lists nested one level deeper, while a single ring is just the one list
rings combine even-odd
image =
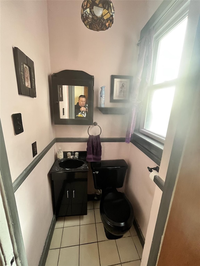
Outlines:
[{"label": "whole black two-door bathroom vanity with sink top", "polygon": [[56,216],[86,215],[88,196],[86,152],[79,152],[78,159],[67,158],[67,152],[63,154],[64,158],[57,159],[49,172],[53,212]]}]

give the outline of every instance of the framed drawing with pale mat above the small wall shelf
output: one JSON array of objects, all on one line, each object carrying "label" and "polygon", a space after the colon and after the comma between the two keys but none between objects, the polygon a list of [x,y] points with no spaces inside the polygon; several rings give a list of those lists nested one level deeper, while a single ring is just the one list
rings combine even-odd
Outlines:
[{"label": "framed drawing with pale mat above the small wall shelf", "polygon": [[133,76],[111,75],[110,102],[128,102],[132,84]]}]

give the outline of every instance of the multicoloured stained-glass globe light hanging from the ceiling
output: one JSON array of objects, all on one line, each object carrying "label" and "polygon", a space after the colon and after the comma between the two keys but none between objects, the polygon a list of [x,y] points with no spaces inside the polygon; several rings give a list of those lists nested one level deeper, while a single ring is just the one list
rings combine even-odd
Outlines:
[{"label": "multicoloured stained-glass globe light hanging from the ceiling", "polygon": [[110,0],[84,0],[81,19],[93,31],[108,30],[114,22],[115,9]]}]

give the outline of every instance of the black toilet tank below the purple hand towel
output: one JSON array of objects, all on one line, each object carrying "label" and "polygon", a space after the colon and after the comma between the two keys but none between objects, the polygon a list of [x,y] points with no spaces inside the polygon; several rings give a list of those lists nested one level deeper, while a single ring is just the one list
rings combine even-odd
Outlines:
[{"label": "black toilet tank below the purple hand towel", "polygon": [[102,160],[91,162],[95,189],[119,188],[123,186],[128,168],[124,160]]}]

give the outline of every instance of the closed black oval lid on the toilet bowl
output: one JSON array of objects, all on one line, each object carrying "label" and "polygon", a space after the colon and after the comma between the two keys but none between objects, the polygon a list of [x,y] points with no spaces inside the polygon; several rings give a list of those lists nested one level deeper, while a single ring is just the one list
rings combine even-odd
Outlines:
[{"label": "closed black oval lid on the toilet bowl", "polygon": [[121,192],[108,193],[103,202],[103,209],[107,217],[114,222],[122,223],[130,217],[130,207]]}]

